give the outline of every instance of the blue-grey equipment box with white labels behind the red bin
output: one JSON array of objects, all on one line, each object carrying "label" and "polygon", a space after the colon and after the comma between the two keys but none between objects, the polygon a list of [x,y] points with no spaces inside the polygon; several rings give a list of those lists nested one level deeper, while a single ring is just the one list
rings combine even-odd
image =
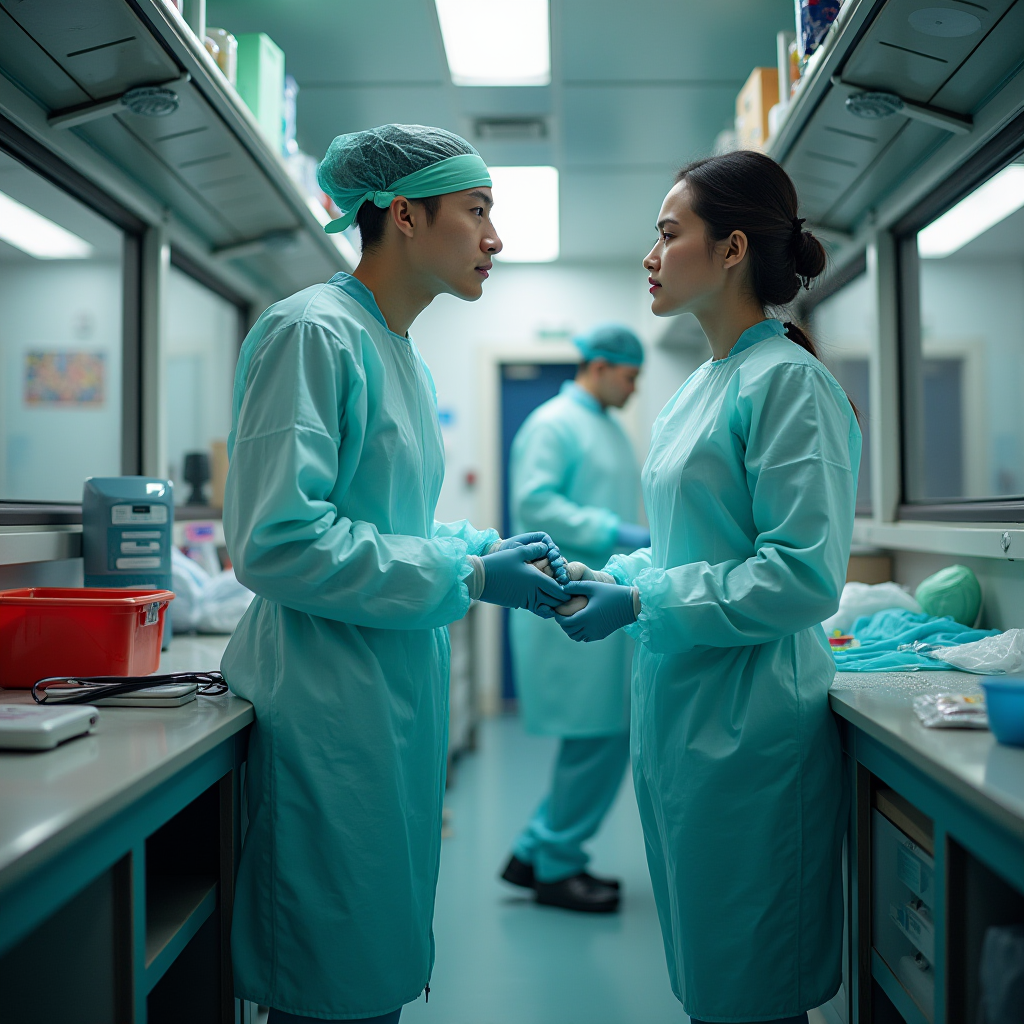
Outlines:
[{"label": "blue-grey equipment box with white labels behind the red bin", "polygon": [[174,486],[147,476],[90,476],[82,489],[86,587],[171,589]]}]

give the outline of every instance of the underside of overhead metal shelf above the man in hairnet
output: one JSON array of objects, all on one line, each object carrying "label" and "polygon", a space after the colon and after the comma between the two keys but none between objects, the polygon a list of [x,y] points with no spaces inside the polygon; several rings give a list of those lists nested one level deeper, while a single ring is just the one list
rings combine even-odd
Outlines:
[{"label": "underside of overhead metal shelf above the man in hairnet", "polygon": [[[52,148],[68,133],[85,140],[269,295],[348,269],[323,231],[326,213],[292,181],[184,20],[162,0],[88,7],[83,19],[74,0],[0,0],[0,68],[46,112]],[[118,102],[153,85],[174,91],[176,111],[145,117]],[[73,123],[100,104],[104,116]]]}]

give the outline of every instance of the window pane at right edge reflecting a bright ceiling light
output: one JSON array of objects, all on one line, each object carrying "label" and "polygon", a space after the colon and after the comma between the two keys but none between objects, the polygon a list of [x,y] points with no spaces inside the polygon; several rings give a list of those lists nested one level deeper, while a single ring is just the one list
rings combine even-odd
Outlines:
[{"label": "window pane at right edge reflecting a bright ceiling light", "polygon": [[1024,160],[915,241],[903,259],[916,282],[904,294],[906,499],[1024,498]]}]

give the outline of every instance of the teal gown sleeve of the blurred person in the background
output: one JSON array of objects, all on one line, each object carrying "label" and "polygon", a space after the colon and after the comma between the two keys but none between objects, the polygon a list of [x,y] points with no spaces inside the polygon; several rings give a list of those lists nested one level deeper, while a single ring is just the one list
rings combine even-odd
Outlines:
[{"label": "teal gown sleeve of the blurred person in the background", "polygon": [[620,518],[596,505],[565,497],[574,462],[572,439],[554,424],[521,430],[512,451],[512,507],[526,531],[544,530],[555,544],[606,552],[615,545]]}]

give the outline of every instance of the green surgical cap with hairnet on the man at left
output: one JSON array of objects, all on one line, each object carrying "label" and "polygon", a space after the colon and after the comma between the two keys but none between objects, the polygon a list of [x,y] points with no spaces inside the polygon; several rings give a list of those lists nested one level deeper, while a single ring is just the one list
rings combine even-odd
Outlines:
[{"label": "green surgical cap with hairnet on the man at left", "polygon": [[344,213],[325,226],[333,234],[348,227],[368,201],[386,210],[396,196],[425,199],[489,186],[490,174],[476,150],[443,128],[381,125],[335,138],[316,181]]}]

